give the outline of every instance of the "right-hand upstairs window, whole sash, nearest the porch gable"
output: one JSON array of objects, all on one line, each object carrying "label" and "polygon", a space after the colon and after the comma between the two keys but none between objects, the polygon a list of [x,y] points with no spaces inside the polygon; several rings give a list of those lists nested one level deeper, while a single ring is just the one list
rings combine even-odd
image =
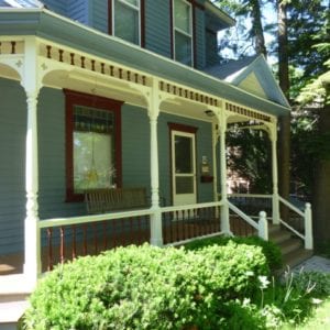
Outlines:
[{"label": "right-hand upstairs window, whole sash, nearest the porch gable", "polygon": [[174,0],[174,58],[193,66],[193,9],[185,0]]}]

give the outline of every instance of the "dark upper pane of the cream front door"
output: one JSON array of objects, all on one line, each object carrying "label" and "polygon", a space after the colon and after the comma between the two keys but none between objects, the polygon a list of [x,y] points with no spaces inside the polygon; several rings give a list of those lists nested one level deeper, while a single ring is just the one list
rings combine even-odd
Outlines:
[{"label": "dark upper pane of the cream front door", "polygon": [[175,172],[193,173],[193,143],[190,138],[175,136]]}]

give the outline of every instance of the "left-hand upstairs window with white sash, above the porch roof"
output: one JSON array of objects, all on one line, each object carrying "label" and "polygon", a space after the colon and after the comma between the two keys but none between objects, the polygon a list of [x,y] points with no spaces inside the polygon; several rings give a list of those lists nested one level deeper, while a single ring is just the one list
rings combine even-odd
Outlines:
[{"label": "left-hand upstairs window with white sash, above the porch roof", "polygon": [[128,42],[141,44],[140,0],[112,0],[112,33]]}]

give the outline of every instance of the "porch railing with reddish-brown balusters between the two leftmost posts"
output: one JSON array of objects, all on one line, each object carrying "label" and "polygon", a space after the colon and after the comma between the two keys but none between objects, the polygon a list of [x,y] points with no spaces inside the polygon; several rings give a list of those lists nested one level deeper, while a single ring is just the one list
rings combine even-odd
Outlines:
[{"label": "porch railing with reddish-brown balusters between the two leftmost posts", "polygon": [[42,271],[79,255],[148,242],[152,213],[148,209],[40,221],[40,258],[46,261]]}]

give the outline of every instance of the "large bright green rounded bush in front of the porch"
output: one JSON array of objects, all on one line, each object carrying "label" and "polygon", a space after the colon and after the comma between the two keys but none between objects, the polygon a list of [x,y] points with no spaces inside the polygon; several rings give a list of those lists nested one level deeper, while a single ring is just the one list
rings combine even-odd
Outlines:
[{"label": "large bright green rounded bush in front of the porch", "polygon": [[260,248],[200,251],[147,244],[58,266],[31,296],[26,329],[219,329],[226,301],[267,273]]}]

